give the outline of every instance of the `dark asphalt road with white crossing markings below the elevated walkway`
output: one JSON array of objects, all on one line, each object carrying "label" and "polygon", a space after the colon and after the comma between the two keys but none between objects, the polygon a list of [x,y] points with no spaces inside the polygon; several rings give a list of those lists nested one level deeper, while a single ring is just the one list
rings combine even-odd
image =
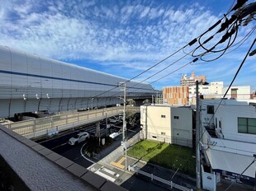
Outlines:
[{"label": "dark asphalt road with white crossing markings below the elevated walkway", "polygon": [[[102,125],[101,125],[102,130],[105,129],[104,124],[105,122],[102,122]],[[115,125],[112,125],[111,130],[118,131],[121,128],[121,126],[122,126],[121,122],[115,123]],[[86,144],[86,142],[81,142],[81,143],[78,143],[78,145],[74,145],[74,146],[71,146],[67,143],[69,141],[69,138],[73,137],[77,133],[81,131],[88,131],[89,133],[92,134],[95,132],[95,129],[96,129],[95,124],[94,125],[92,124],[87,127],[83,127],[79,129],[74,129],[74,130],[71,129],[69,131],[59,133],[59,135],[56,135],[56,137],[48,137],[48,138],[37,140],[36,142],[49,148],[52,151],[55,151],[59,155],[64,156],[71,161],[74,161],[78,165],[82,165],[85,168],[89,168],[89,170],[92,170],[99,175],[106,176],[105,178],[111,179],[116,184],[119,184],[123,188],[126,188],[128,190],[164,191],[164,190],[170,189],[165,184],[156,182],[156,180],[152,182],[149,178],[146,178],[143,175],[133,175],[132,173],[127,173],[125,170],[116,168],[116,166],[111,165],[111,161],[116,160],[116,162],[118,162],[118,161],[121,161],[122,157],[124,157],[123,156],[124,153],[122,150],[118,151],[117,154],[115,155],[115,151],[118,150],[118,147],[120,147],[120,144],[121,144],[121,139],[122,139],[121,135],[114,139],[110,147],[107,147],[107,149],[101,152],[101,155],[102,155],[101,158],[104,158],[105,156],[108,157],[110,153],[111,154],[114,153],[113,155],[114,157],[110,158],[109,161],[104,161],[104,160],[96,161],[94,159],[89,159],[89,160],[85,159],[81,153],[81,148]],[[135,131],[128,131],[127,137],[133,137],[135,133],[140,131],[140,128],[135,128],[134,130]],[[134,163],[135,163],[134,159],[128,160],[128,165],[132,165]],[[145,164],[141,165],[141,170],[144,170],[148,173],[154,173],[154,175],[157,175],[164,179],[169,179],[173,175],[173,172],[169,170],[162,170],[152,165],[145,165]],[[111,172],[113,175],[111,175]],[[175,180],[176,183],[181,184],[183,186],[187,186],[187,183],[193,184],[193,181],[189,179],[184,179],[183,177],[180,178],[179,176],[175,176],[173,180]]]}]

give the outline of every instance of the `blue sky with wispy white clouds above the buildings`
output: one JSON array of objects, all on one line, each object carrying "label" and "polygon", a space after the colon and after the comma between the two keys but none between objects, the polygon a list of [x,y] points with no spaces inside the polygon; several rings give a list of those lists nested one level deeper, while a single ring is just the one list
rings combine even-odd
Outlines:
[{"label": "blue sky with wispy white clouds above the buildings", "polygon": [[[0,44],[130,79],[201,35],[235,2],[0,0]],[[207,82],[222,81],[228,86],[254,41],[254,26],[255,20],[247,26],[240,26],[233,46],[215,61],[199,59],[183,67],[194,59],[187,53],[197,48],[196,43],[135,80],[154,82],[152,86],[160,90],[163,86],[179,86],[183,74],[190,76],[195,72],[196,75],[205,75]],[[214,29],[215,32],[217,28],[220,26]],[[202,40],[213,32],[204,35]],[[215,36],[206,44],[207,47],[216,44],[222,35],[224,33]],[[245,40],[247,35],[249,38]],[[197,49],[195,54],[201,52],[202,49]],[[204,59],[214,59],[219,55],[206,55]],[[161,70],[163,72],[159,72]],[[159,73],[154,75],[156,72]],[[234,85],[252,86],[252,91],[255,91],[255,72],[255,56],[249,57]]]}]

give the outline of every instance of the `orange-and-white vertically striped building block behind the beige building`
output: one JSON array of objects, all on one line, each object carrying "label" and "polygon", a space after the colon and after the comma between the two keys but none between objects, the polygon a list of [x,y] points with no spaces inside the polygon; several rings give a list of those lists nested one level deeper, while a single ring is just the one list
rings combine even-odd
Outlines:
[{"label": "orange-and-white vertically striped building block behind the beige building", "polygon": [[188,86],[172,86],[163,88],[164,104],[189,105]]}]

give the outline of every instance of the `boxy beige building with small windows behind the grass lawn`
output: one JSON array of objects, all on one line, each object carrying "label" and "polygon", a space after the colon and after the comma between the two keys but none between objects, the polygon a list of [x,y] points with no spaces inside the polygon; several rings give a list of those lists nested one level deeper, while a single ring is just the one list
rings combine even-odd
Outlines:
[{"label": "boxy beige building with small windows behind the grass lawn", "polygon": [[192,109],[171,105],[140,106],[142,136],[192,147]]}]

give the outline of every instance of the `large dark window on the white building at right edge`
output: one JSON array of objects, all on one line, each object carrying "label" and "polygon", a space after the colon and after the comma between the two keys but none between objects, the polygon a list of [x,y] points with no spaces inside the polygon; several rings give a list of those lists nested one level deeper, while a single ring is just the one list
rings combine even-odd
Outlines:
[{"label": "large dark window on the white building at right edge", "polygon": [[256,134],[256,119],[238,118],[238,133]]}]

